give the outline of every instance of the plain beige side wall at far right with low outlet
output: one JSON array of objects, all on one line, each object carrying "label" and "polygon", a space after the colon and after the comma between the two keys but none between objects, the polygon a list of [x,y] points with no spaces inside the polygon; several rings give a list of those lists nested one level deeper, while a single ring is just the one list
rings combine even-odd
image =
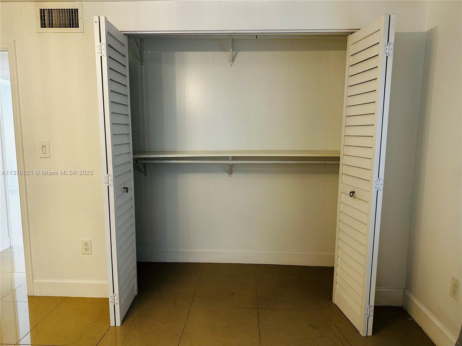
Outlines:
[{"label": "plain beige side wall at far right with low outlet", "polygon": [[461,4],[428,8],[404,301],[438,345],[453,345],[462,321],[449,296],[451,275],[462,279]]}]

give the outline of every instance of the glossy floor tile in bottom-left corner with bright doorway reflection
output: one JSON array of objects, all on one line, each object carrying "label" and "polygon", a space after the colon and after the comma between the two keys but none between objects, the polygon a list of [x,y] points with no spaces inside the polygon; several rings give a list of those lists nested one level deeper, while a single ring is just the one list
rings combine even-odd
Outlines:
[{"label": "glossy floor tile in bottom-left corner with bright doorway reflection", "polygon": [[37,323],[55,309],[58,304],[59,302],[0,302],[0,342],[4,344],[16,344]]}]

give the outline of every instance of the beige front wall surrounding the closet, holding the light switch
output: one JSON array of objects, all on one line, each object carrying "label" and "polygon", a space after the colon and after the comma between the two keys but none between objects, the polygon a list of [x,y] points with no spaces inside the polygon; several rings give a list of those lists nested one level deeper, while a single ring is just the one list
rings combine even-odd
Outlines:
[{"label": "beige front wall surrounding the closet, holding the light switch", "polygon": [[[416,33],[425,27],[425,2],[84,2],[83,11],[84,33],[38,34],[33,3],[0,3],[0,38],[16,40],[26,168],[94,171],[91,177],[27,177],[35,294],[69,294],[71,287],[75,295],[107,294],[93,14],[105,15],[120,30],[302,30],[360,28],[383,13],[397,13],[396,48],[410,53],[394,61],[401,73],[392,80],[390,126],[410,139],[394,138],[387,149],[387,164],[405,169],[389,172],[389,180],[385,173],[385,186],[395,187],[388,197],[384,191],[383,209],[388,203],[393,214],[383,215],[377,278],[378,286],[399,294],[404,273],[395,273],[405,266],[410,208],[402,181],[412,179],[409,143],[415,143],[412,131],[403,129],[414,128],[417,119],[422,38]],[[50,141],[50,159],[38,158],[39,140]],[[81,238],[92,239],[91,256],[80,254]]]}]

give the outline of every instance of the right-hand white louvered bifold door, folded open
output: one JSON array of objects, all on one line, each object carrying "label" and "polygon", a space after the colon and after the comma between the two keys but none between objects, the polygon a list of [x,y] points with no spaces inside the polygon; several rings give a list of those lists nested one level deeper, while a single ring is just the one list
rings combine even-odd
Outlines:
[{"label": "right-hand white louvered bifold door, folded open", "polygon": [[[333,301],[371,335],[395,15],[347,42]],[[391,43],[391,44],[390,44]]]}]

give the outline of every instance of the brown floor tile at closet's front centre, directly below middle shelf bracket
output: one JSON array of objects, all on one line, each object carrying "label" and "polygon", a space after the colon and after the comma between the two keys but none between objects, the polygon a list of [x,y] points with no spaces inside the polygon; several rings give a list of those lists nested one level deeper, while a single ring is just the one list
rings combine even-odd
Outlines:
[{"label": "brown floor tile at closet's front centre, directly below middle shelf bracket", "polygon": [[255,278],[201,277],[193,306],[256,308]]}]

